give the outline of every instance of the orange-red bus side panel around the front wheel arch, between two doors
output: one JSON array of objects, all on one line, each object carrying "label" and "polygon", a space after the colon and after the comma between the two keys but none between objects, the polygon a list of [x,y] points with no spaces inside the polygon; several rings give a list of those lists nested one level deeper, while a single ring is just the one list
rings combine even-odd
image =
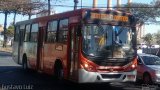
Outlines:
[{"label": "orange-red bus side panel around the front wheel arch, between two doors", "polygon": [[45,44],[44,45],[44,72],[53,74],[54,65],[57,59],[62,61],[64,75],[67,74],[67,45],[65,44]]}]

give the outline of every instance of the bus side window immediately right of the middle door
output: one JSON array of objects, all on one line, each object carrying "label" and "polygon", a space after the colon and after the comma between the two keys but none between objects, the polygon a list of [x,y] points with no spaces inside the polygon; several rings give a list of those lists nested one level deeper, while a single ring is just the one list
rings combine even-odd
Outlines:
[{"label": "bus side window immediately right of the middle door", "polygon": [[49,43],[56,42],[57,25],[58,25],[57,21],[52,21],[48,23],[47,42]]}]

